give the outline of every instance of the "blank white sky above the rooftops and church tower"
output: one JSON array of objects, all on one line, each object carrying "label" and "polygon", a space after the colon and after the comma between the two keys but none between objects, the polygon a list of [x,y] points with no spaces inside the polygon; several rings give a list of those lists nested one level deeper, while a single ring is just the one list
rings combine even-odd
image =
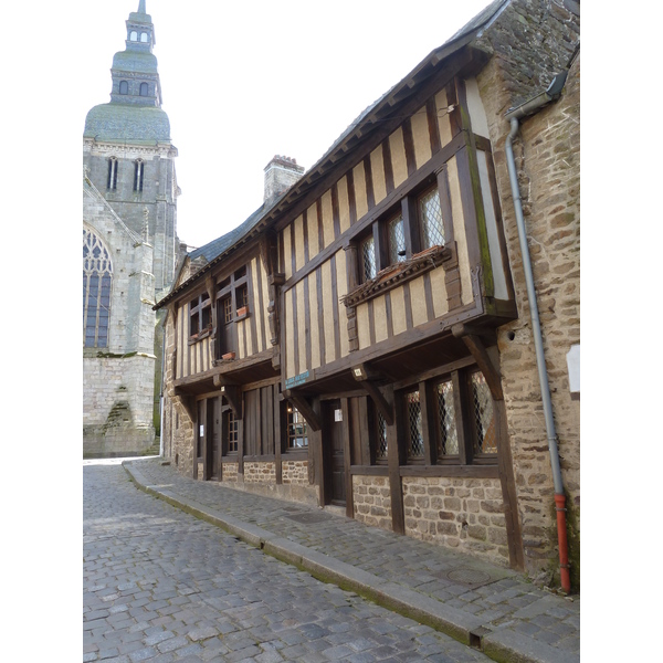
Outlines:
[{"label": "blank white sky above the rooftops and church tower", "polygon": [[[178,148],[178,234],[200,246],[263,200],[264,167],[309,168],[366,108],[490,0],[147,0],[162,108]],[[138,0],[90,0],[80,15],[86,85],[80,131],[109,101],[113,55]],[[85,30],[86,29],[86,30]]]}]

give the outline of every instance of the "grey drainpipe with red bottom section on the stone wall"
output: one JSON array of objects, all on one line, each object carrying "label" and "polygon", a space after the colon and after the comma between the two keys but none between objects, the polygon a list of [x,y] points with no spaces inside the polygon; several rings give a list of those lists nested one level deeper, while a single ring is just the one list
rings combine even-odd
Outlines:
[{"label": "grey drainpipe with red bottom section on the stone wall", "polygon": [[539,95],[533,97],[532,99],[525,102],[517,108],[512,108],[506,114],[506,119],[511,122],[511,133],[508,134],[505,144],[506,164],[508,167],[508,176],[511,180],[514,208],[516,212],[516,223],[518,228],[518,239],[520,242],[520,253],[523,254],[523,269],[525,271],[525,282],[527,284],[527,297],[529,299],[532,332],[534,334],[534,347],[536,350],[536,364],[538,368],[541,400],[544,404],[544,417],[546,420],[548,449],[550,451],[550,464],[552,466],[552,483],[555,485],[555,507],[557,511],[557,538],[559,547],[559,577],[561,582],[561,589],[566,593],[569,593],[571,590],[567,544],[566,496],[564,494],[561,470],[559,466],[559,454],[557,450],[558,436],[557,431],[555,429],[555,420],[552,418],[552,402],[550,400],[548,371],[546,369],[546,358],[544,356],[544,340],[541,336],[541,326],[539,320],[538,304],[536,299],[536,291],[534,287],[534,273],[532,271],[529,248],[527,245],[527,231],[525,228],[523,203],[520,200],[520,191],[518,188],[518,173],[516,170],[516,161],[514,159],[513,139],[518,133],[519,120],[523,117],[533,115],[546,104],[559,98],[559,96],[561,95],[561,90],[564,88],[564,84],[566,82],[568,67],[570,66],[571,62],[572,60],[569,62],[569,65],[567,65],[566,70],[564,70],[560,74],[555,76],[552,83],[550,83],[546,92],[543,92]]}]

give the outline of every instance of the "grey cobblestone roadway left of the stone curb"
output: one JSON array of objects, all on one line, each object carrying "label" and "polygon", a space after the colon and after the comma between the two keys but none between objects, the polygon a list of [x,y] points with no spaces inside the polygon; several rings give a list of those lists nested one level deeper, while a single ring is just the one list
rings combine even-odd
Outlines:
[{"label": "grey cobblestone roadway left of the stone curb", "polygon": [[488,660],[138,491],[117,463],[85,464],[83,529],[84,662]]}]

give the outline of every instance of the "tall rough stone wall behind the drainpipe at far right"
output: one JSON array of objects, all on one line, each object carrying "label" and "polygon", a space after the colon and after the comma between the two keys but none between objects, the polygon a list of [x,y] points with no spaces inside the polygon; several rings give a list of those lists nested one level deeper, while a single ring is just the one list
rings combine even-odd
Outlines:
[{"label": "tall rough stone wall behind the drainpipe at far right", "polygon": [[[534,12],[505,12],[493,34],[494,57],[477,76],[486,109],[507,251],[514,280],[518,319],[498,330],[499,369],[507,411],[515,469],[518,515],[526,571],[535,581],[550,582],[558,572],[554,486],[537,373],[530,308],[518,241],[504,144],[509,107],[547,87],[552,73],[569,60],[579,30],[579,7],[570,0],[529,2],[516,8]],[[534,17],[534,19],[533,19]],[[517,30],[516,30],[517,28]],[[488,33],[491,34],[491,32]],[[496,38],[495,34],[503,36]],[[545,35],[546,48],[538,49]],[[523,75],[519,57],[539,62]],[[518,69],[519,77],[513,74]],[[552,72],[552,73],[551,73]],[[537,76],[534,74],[537,73]],[[549,76],[545,78],[544,74]],[[529,87],[527,87],[527,84]],[[567,492],[571,585],[579,588],[580,513],[580,403],[569,392],[566,356],[580,343],[580,56],[569,72],[559,101],[520,120],[514,139],[518,183],[523,199],[528,246],[539,308],[544,352],[551,391],[552,412]]]}]

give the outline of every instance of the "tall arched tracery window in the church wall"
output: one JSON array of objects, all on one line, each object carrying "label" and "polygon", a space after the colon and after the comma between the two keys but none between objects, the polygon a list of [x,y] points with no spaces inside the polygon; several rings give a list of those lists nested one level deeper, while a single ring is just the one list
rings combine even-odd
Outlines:
[{"label": "tall arched tracery window in the church wall", "polygon": [[113,263],[101,239],[83,229],[83,343],[86,348],[108,347]]}]

